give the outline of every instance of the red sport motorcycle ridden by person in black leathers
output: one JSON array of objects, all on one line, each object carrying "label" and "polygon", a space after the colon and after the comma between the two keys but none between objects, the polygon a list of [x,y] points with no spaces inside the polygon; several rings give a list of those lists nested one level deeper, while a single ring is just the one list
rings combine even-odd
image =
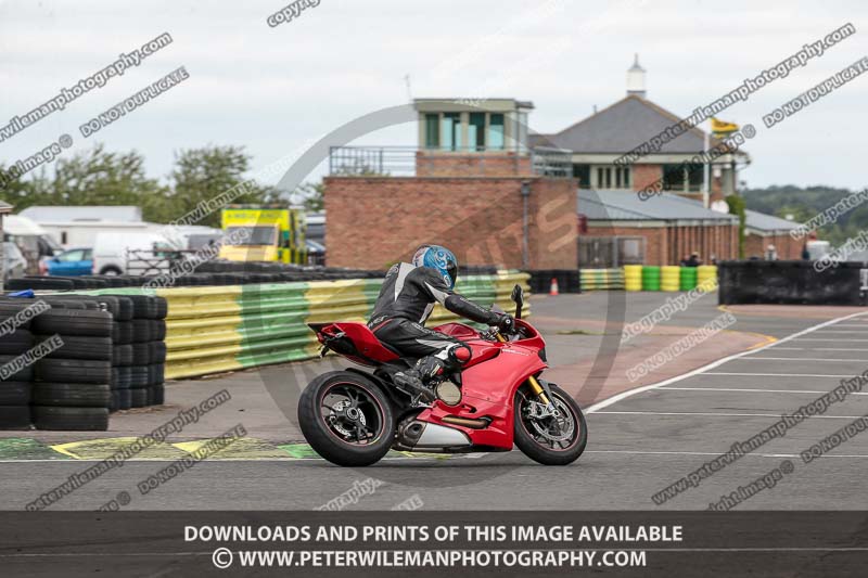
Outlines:
[{"label": "red sport motorcycle ridden by person in black leathers", "polygon": [[539,378],[546,343],[522,320],[523,294],[512,292],[511,335],[463,323],[436,327],[467,343],[470,361],[441,382],[430,406],[392,382],[414,360],[382,344],[363,323],[310,323],[323,346],[374,368],[332,371],[315,378],[298,402],[298,422],[317,453],[345,466],[370,465],[390,449],[435,452],[510,451],[516,445],[546,465],[574,462],[588,440],[585,416],[563,389]]}]

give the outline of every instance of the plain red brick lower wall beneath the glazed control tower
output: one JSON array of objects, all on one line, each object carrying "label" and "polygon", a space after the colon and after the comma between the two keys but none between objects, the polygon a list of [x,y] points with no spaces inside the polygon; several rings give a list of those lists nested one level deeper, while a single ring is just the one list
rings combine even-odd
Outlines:
[{"label": "plain red brick lower wall beneath the glazed control tower", "polygon": [[[523,252],[523,197],[529,234]],[[575,269],[575,185],[542,177],[327,177],[328,262],[383,269],[420,243],[462,264]],[[341,223],[341,224],[336,224]]]}]

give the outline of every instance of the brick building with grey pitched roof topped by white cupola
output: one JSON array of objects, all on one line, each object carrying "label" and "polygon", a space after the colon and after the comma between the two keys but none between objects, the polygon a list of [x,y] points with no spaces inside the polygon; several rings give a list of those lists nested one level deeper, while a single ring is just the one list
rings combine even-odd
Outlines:
[{"label": "brick building with grey pitched roof topped by white cupola", "polygon": [[[560,132],[531,137],[531,146],[570,154],[579,187],[578,213],[587,222],[579,265],[676,265],[694,251],[705,262],[739,258],[739,222],[724,200],[738,194],[739,170],[751,163],[744,150],[726,149],[694,127],[631,164],[615,164],[681,120],[648,100],[644,76],[637,56],[622,100]],[[715,147],[727,152],[695,163]],[[637,192],[655,183],[669,192],[640,200]],[[745,216],[745,257],[762,257],[775,245],[778,258],[799,258],[801,244],[788,234],[797,223],[751,210]]]}]

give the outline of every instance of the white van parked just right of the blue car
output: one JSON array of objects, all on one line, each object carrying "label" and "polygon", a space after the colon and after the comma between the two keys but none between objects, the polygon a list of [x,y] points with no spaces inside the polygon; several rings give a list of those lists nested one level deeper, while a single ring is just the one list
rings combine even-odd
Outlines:
[{"label": "white van parked just right of the blue car", "polygon": [[177,247],[157,233],[97,233],[93,273],[159,274],[169,270],[169,257],[175,251]]}]

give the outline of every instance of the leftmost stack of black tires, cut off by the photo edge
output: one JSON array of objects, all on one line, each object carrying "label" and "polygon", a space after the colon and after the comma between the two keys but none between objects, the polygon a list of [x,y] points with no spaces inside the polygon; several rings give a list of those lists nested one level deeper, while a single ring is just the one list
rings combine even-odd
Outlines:
[{"label": "leftmost stack of black tires, cut off by the photo edge", "polygon": [[[30,299],[18,303],[21,299],[0,300],[0,321],[4,325],[0,334],[0,367],[9,363],[20,355],[33,347],[30,321],[21,324],[12,320],[21,311],[31,305]],[[30,395],[33,390],[33,367],[8,375],[0,375],[0,429],[28,429],[30,427]]]}]

